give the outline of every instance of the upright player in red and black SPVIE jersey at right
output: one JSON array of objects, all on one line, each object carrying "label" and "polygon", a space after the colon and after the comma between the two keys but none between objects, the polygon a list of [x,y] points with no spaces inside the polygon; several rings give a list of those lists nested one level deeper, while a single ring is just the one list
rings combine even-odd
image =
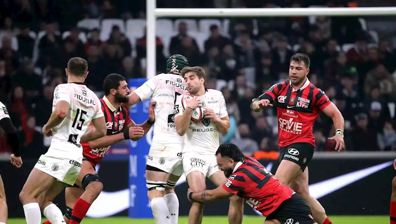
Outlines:
[{"label": "upright player in red and black SPVIE jersey at right", "polygon": [[251,109],[278,107],[278,130],[280,165],[275,173],[282,184],[301,195],[311,207],[312,215],[319,224],[331,224],[322,205],[308,190],[308,164],[315,149],[312,126],[323,111],[333,120],[336,142],[335,150],[345,148],[344,118],[326,94],[309,82],[310,59],[297,53],[290,58],[289,79],[274,84],[267,92],[252,100]]}]

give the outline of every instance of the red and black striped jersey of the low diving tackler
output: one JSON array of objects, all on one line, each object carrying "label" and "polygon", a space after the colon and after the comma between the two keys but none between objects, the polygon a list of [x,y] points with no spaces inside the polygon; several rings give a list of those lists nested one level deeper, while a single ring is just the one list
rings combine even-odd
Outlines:
[{"label": "red and black striped jersey of the low diving tackler", "polygon": [[238,162],[223,188],[246,199],[246,203],[263,216],[271,214],[294,193],[251,156]]}]

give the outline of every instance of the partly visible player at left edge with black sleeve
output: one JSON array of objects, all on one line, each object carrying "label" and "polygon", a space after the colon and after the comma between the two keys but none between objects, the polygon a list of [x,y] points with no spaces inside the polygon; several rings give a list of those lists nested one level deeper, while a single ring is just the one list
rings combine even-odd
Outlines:
[{"label": "partly visible player at left edge with black sleeve", "polygon": [[[6,132],[8,144],[11,147],[11,164],[17,168],[22,166],[21,155],[19,154],[19,140],[16,128],[12,124],[6,105],[0,102],[0,127]],[[6,192],[4,191],[3,179],[0,175],[0,224],[6,224],[8,209],[6,202]]]}]

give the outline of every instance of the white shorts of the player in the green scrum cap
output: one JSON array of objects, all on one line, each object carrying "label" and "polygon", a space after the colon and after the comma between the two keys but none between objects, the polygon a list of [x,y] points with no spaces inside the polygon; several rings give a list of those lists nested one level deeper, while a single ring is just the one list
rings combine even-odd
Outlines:
[{"label": "white shorts of the player in the green scrum cap", "polygon": [[[157,168],[164,172],[181,176],[183,165],[181,163],[181,144],[159,144],[151,143],[147,157],[147,166]],[[148,167],[146,167],[147,170]],[[154,170],[155,171],[155,170]]]}]

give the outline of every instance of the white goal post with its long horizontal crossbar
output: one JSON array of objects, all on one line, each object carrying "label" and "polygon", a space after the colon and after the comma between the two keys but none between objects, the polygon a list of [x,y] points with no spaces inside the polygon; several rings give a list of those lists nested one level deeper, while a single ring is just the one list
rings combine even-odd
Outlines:
[{"label": "white goal post with its long horizontal crossbar", "polygon": [[156,75],[157,17],[293,17],[293,16],[380,16],[396,15],[396,7],[356,8],[156,8],[156,0],[147,4],[147,79]]}]

